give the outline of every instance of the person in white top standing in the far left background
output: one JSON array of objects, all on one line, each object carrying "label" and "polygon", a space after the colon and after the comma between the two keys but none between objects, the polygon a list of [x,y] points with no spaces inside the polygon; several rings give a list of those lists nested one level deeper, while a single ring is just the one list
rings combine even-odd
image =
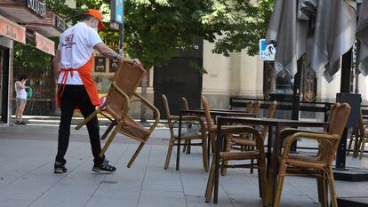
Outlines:
[{"label": "person in white top standing in the far left background", "polygon": [[15,111],[15,124],[23,124],[26,125],[22,121],[22,116],[24,112],[24,107],[26,107],[27,103],[27,92],[28,86],[26,86],[28,76],[21,75],[14,84],[15,92],[17,93],[16,102],[17,102],[17,110]]}]

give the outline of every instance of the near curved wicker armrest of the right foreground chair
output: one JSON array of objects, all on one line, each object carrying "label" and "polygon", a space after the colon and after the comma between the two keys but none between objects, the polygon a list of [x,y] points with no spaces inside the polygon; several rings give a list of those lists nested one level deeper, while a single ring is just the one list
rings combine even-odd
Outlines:
[{"label": "near curved wicker armrest of the right foreground chair", "polygon": [[284,142],[284,154],[283,158],[286,158],[292,147],[292,142],[296,139],[314,139],[321,143],[321,141],[327,141],[330,145],[332,145],[332,141],[340,140],[340,136],[338,134],[327,134],[327,133],[317,133],[317,132],[296,132],[292,134],[290,137],[285,139]]}]

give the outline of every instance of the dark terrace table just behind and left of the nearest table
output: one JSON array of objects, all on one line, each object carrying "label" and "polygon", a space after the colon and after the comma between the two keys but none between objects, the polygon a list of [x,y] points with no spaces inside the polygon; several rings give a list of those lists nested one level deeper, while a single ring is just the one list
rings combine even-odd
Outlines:
[{"label": "dark terrace table just behind and left of the nearest table", "polygon": [[[247,113],[246,111],[236,111],[232,112],[231,110],[210,110],[210,113],[212,116],[214,116],[214,119],[216,120],[216,116],[222,115],[222,116],[241,116],[241,117],[255,117],[256,114]],[[181,137],[181,123],[182,123],[182,117],[183,115],[204,115],[204,109],[203,108],[196,108],[196,109],[180,109],[179,110],[179,129],[178,129],[178,153],[176,154],[176,170],[179,171],[179,165],[180,165],[180,137]],[[210,145],[208,145],[210,148]]]}]

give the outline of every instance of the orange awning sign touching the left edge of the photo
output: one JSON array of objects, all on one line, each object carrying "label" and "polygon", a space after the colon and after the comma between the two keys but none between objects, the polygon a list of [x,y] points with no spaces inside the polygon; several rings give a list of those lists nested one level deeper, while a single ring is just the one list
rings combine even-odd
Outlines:
[{"label": "orange awning sign touching the left edge of the photo", "polygon": [[0,16],[0,36],[6,36],[22,44],[26,44],[26,28],[3,16]]}]

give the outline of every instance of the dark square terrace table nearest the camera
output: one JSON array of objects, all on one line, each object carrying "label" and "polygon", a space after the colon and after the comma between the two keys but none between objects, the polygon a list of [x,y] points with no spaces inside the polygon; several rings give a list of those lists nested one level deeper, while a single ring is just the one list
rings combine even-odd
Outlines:
[{"label": "dark square terrace table nearest the camera", "polygon": [[[284,127],[327,127],[329,123],[324,122],[310,122],[310,121],[300,121],[300,120],[289,120],[289,119],[276,119],[276,118],[252,118],[252,117],[228,117],[228,116],[218,116],[217,117],[217,149],[222,149],[222,137],[221,137],[221,127],[223,125],[231,124],[231,123],[242,123],[248,125],[268,125],[268,188],[272,191],[272,197],[276,192],[276,181],[277,181],[277,172],[278,172],[278,155],[282,149],[282,140],[278,138],[280,130]],[[272,130],[275,130],[275,144],[273,146],[273,150],[271,150],[271,137]],[[272,153],[271,153],[272,151]],[[214,196],[213,203],[218,202],[218,194],[219,194],[219,169],[220,169],[220,150],[216,150],[215,153],[215,179],[214,179]],[[272,198],[270,195],[268,198]],[[271,199],[269,199],[271,200]],[[272,205],[273,201],[268,201],[268,205]]]}]

